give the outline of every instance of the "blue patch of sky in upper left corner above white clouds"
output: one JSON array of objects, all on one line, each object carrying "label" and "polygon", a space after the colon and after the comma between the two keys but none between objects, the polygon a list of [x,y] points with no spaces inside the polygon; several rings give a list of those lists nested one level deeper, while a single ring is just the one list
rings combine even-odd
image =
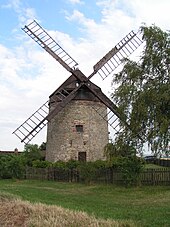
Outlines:
[{"label": "blue patch of sky in upper left corner above white clouds", "polygon": [[[20,26],[24,25],[24,21],[33,15],[36,20],[40,20],[45,27],[50,27],[52,30],[59,30],[70,34],[72,37],[77,37],[81,33],[78,28],[78,23],[71,26],[72,22],[66,17],[74,10],[81,11],[85,17],[92,16],[96,22],[101,20],[101,8],[96,7],[96,1],[69,1],[69,0],[28,0],[28,1],[7,1],[1,0],[0,17],[3,18],[0,22],[3,36],[2,42],[15,38],[20,31]],[[26,13],[27,12],[27,13]],[[26,15],[27,14],[27,15]],[[50,26],[49,26],[50,25]],[[17,40],[13,40],[17,43]],[[8,45],[13,43],[10,41]]]}]

